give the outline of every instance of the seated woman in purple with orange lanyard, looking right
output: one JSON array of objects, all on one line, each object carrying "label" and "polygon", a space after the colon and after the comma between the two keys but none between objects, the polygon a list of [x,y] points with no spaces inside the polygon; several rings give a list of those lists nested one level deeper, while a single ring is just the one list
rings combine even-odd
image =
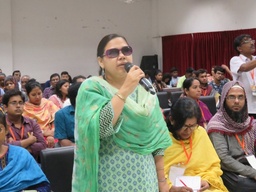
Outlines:
[{"label": "seated woman in purple with orange lanyard, looking right", "polygon": [[202,112],[202,118],[198,122],[198,124],[205,129],[207,128],[208,122],[212,118],[212,114],[210,113],[207,105],[198,98],[201,96],[201,85],[198,78],[187,78],[183,82],[183,88],[185,92],[185,96],[189,97],[197,102],[199,105],[201,112]]}]

